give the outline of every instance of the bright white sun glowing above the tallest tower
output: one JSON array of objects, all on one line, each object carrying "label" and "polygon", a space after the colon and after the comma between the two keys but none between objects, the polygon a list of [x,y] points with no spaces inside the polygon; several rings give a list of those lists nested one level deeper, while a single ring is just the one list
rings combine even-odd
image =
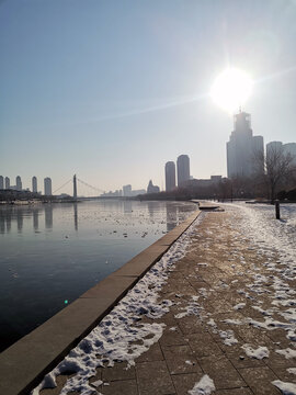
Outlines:
[{"label": "bright white sun glowing above the tallest tower", "polygon": [[216,104],[234,113],[249,99],[252,88],[253,81],[246,71],[228,68],[216,78],[210,97]]}]

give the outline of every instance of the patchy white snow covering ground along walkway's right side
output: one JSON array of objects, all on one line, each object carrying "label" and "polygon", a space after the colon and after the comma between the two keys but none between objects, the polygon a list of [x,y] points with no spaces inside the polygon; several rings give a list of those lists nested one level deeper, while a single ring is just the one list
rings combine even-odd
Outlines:
[{"label": "patchy white snow covering ground along walkway's right side", "polygon": [[[254,248],[258,255],[266,257],[264,267],[270,272],[270,275],[262,275],[257,273],[260,268],[254,267],[253,283],[246,284],[250,292],[258,294],[258,298],[253,298],[252,307],[262,314],[262,319],[247,318],[244,323],[232,321],[232,324],[249,324],[265,330],[277,328],[285,330],[292,349],[277,349],[275,352],[286,359],[295,358],[296,291],[289,285],[289,281],[295,280],[296,274],[296,204],[282,204],[280,221],[275,218],[275,208],[272,205],[234,204],[226,205],[226,207],[237,211],[236,228],[241,235],[246,235],[248,242],[252,244],[251,248]],[[243,258],[241,258],[241,262],[243,262]],[[269,286],[265,286],[266,283]],[[248,296],[246,290],[241,291]],[[271,307],[267,309],[260,307],[262,303],[260,295],[262,294],[270,298]],[[234,306],[235,309],[243,309],[243,303]],[[284,319],[278,320],[274,318],[274,315],[280,315]],[[259,347],[254,350],[250,345],[243,345],[242,349],[248,357],[257,359],[269,358],[270,353],[266,347]],[[293,368],[287,369],[287,372],[294,374]],[[283,394],[296,394],[295,383],[275,380],[272,384]]]}]

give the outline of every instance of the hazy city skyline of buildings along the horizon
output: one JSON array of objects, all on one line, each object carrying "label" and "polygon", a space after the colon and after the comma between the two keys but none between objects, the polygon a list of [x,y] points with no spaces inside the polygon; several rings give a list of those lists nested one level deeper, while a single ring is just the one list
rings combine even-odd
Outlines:
[{"label": "hazy city skyline of buildings along the horizon", "polygon": [[[182,154],[177,158],[177,161],[167,161],[164,166],[166,177],[166,192],[167,196],[174,196],[177,194],[186,194],[189,191],[206,193],[206,190],[217,189],[218,185],[226,185],[229,183],[234,185],[234,180],[247,180],[249,183],[253,181],[254,174],[266,174],[264,169],[264,160],[261,162],[255,160],[255,157],[266,158],[269,153],[280,151],[289,154],[294,157],[293,165],[296,166],[296,143],[270,142],[264,149],[264,139],[261,135],[253,135],[251,128],[251,115],[247,112],[240,111],[234,115],[234,131],[226,143],[227,154],[227,177],[210,176],[209,179],[195,179],[191,176],[190,171],[190,157]],[[91,185],[88,185],[91,187]],[[220,188],[219,187],[219,188]],[[11,185],[10,178],[0,176],[0,190],[11,191],[11,195],[16,192],[31,193],[30,189],[23,189],[21,176],[16,176],[15,185]],[[58,189],[59,190],[59,189]],[[177,192],[177,194],[174,193]],[[104,192],[101,198],[134,198],[143,194],[157,194],[160,188],[149,181],[147,190],[133,190],[130,184],[123,185],[122,190],[114,192]],[[7,192],[4,192],[7,193]],[[42,195],[37,191],[37,178],[32,177],[32,193]],[[75,194],[75,193],[73,193]],[[52,179],[46,177],[44,179],[44,195],[53,196]],[[69,196],[62,193],[59,196]],[[56,196],[58,198],[58,196]]]}]

